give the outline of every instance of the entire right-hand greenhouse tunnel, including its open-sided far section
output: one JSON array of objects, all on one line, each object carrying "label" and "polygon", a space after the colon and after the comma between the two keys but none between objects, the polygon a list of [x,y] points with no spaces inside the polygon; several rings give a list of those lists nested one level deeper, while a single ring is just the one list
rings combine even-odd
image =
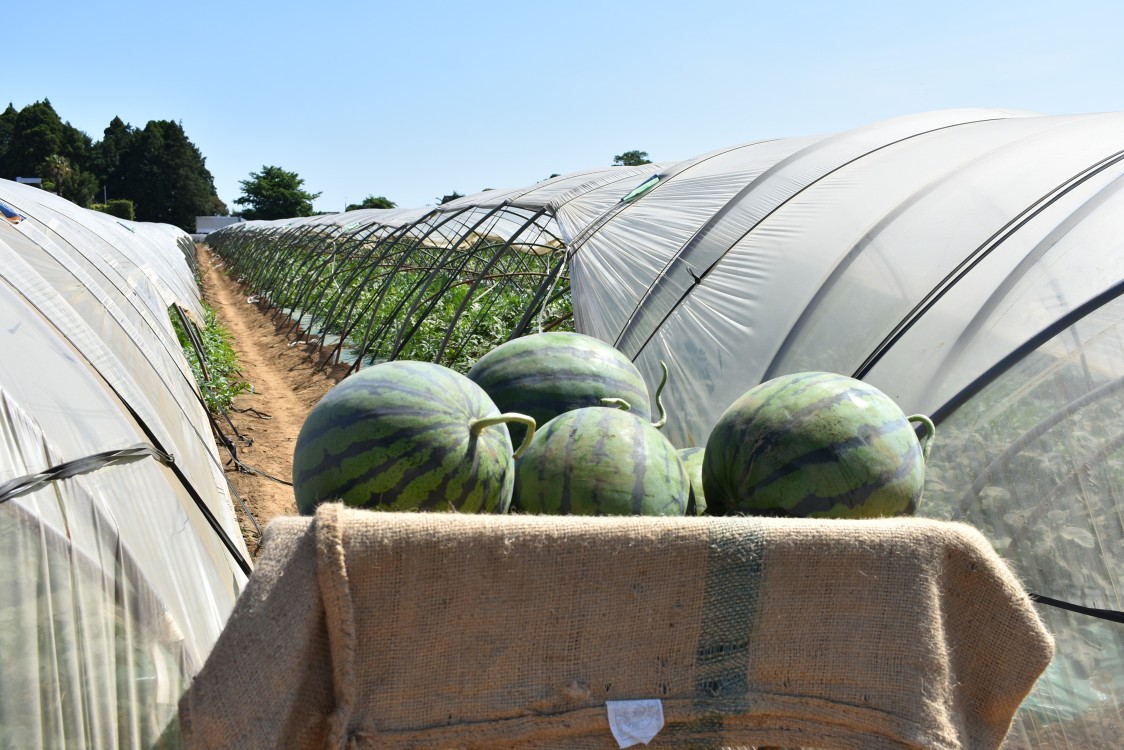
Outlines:
[{"label": "entire right-hand greenhouse tunnel, including its open-sided far section", "polygon": [[[489,335],[597,336],[650,386],[663,362],[679,448],[806,370],[931,414],[921,515],[987,534],[1058,639],[1009,747],[1106,747],[1124,729],[1122,162],[1122,114],[944,110],[429,210],[247,223],[211,244],[294,335],[356,368],[465,370],[489,319]],[[281,259],[306,273],[266,275]],[[424,274],[392,291],[391,269]],[[329,283],[336,309],[300,304]],[[501,288],[529,300],[522,315],[489,307]],[[424,326],[445,345],[410,350]]]}]

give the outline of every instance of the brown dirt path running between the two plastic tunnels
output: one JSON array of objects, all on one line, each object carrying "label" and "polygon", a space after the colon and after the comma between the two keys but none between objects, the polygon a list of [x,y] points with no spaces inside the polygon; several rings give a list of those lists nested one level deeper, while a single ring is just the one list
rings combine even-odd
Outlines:
[{"label": "brown dirt path running between the two plastic tunnels", "polygon": [[[311,354],[303,346],[290,346],[284,336],[290,320],[272,317],[272,310],[248,301],[250,291],[239,288],[225,272],[221,259],[205,245],[197,245],[203,298],[215,309],[219,322],[230,332],[243,378],[253,390],[235,398],[230,422],[244,440],[238,440],[229,424],[220,421],[227,437],[234,437],[238,460],[261,473],[247,473],[230,460],[230,451],[218,446],[226,463],[227,477],[235,490],[265,528],[279,515],[297,513],[292,487],[292,449],[305,417],[343,377],[344,368],[317,372]],[[269,477],[262,476],[269,475]],[[235,509],[251,553],[256,557],[260,541],[256,528],[237,500]]]}]

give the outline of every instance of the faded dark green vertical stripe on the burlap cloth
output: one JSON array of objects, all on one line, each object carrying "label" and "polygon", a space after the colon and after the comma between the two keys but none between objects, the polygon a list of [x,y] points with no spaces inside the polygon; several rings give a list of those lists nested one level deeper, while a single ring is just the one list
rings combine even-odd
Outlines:
[{"label": "faded dark green vertical stripe on the burlap cloth", "polygon": [[750,636],[764,572],[764,532],[750,518],[715,518],[708,531],[695,662],[695,713],[701,716],[665,730],[677,748],[720,747],[724,716],[750,707]]}]

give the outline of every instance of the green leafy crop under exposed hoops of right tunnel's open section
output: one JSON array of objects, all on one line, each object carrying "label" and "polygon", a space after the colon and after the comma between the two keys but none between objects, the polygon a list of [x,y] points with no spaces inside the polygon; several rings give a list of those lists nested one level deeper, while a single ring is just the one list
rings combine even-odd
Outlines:
[{"label": "green leafy crop under exposed hoops of right tunnel's open section", "polygon": [[291,331],[353,367],[410,359],[466,372],[511,336],[572,329],[561,244],[481,231],[434,245],[425,235],[220,231],[208,244],[293,319]]}]

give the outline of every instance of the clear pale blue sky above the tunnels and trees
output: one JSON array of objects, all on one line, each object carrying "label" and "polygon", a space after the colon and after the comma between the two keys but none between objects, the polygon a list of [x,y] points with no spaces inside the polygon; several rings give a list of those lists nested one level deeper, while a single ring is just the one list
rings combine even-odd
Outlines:
[{"label": "clear pale blue sky above the tunnels and trees", "polygon": [[[182,123],[234,209],[264,165],[318,210],[515,188],[957,107],[1124,108],[1124,3],[90,3],[6,13],[4,98],[101,138]],[[6,105],[7,101],[0,103]]]}]

